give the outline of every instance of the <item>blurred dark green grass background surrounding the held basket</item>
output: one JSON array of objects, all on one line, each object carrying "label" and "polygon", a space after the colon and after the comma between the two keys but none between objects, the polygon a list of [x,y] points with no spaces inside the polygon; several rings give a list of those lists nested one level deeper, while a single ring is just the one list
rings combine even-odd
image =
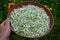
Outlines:
[{"label": "blurred dark green grass background surrounding the held basket", "polygon": [[[0,0],[0,23],[2,23],[8,14],[8,4],[13,2],[15,4],[22,1],[35,1],[52,8],[52,15],[54,17],[54,27],[52,31],[38,40],[60,40],[60,1],[59,0]],[[27,38],[11,34],[11,40],[29,40]]]}]

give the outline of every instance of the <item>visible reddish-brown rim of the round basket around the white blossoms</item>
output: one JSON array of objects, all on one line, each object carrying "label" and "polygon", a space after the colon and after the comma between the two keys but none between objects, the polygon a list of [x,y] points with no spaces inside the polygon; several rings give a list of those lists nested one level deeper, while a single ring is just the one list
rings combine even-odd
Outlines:
[{"label": "visible reddish-brown rim of the round basket around the white blossoms", "polygon": [[[48,15],[49,18],[50,18],[50,29],[48,30],[48,32],[46,32],[46,34],[48,34],[48,33],[52,30],[52,28],[53,28],[54,19],[53,19],[52,13],[51,13],[45,6],[43,6],[42,4],[39,4],[39,3],[36,3],[36,2],[22,2],[22,3],[18,3],[18,4],[16,4],[14,7],[11,8],[11,10],[9,11],[9,13],[8,13],[8,15],[7,15],[7,18],[10,17],[10,12],[13,11],[13,9],[22,7],[23,5],[24,5],[24,6],[25,6],[25,5],[29,5],[29,4],[30,4],[30,5],[38,6],[38,7],[40,7],[40,8],[43,8],[43,9],[46,11],[47,15]],[[12,29],[12,31],[13,31],[13,29]],[[13,31],[13,32],[14,32],[14,31]],[[14,33],[15,33],[15,32],[14,32]],[[16,34],[17,34],[17,33],[16,33]],[[45,35],[46,35],[46,34],[45,34]],[[43,35],[43,36],[44,36],[44,35]],[[38,36],[38,37],[43,37],[43,36]],[[25,37],[25,36],[23,36],[23,37]],[[34,37],[34,38],[38,38],[38,37]],[[27,38],[31,38],[31,37],[27,37]]]}]

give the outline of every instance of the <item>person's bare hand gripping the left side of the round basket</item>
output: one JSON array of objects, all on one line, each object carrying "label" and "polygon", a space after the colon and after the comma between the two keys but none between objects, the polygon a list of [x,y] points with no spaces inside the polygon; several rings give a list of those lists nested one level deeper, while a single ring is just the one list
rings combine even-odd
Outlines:
[{"label": "person's bare hand gripping the left side of the round basket", "polygon": [[0,24],[0,40],[8,40],[10,36],[10,19],[7,18],[2,24]]}]

